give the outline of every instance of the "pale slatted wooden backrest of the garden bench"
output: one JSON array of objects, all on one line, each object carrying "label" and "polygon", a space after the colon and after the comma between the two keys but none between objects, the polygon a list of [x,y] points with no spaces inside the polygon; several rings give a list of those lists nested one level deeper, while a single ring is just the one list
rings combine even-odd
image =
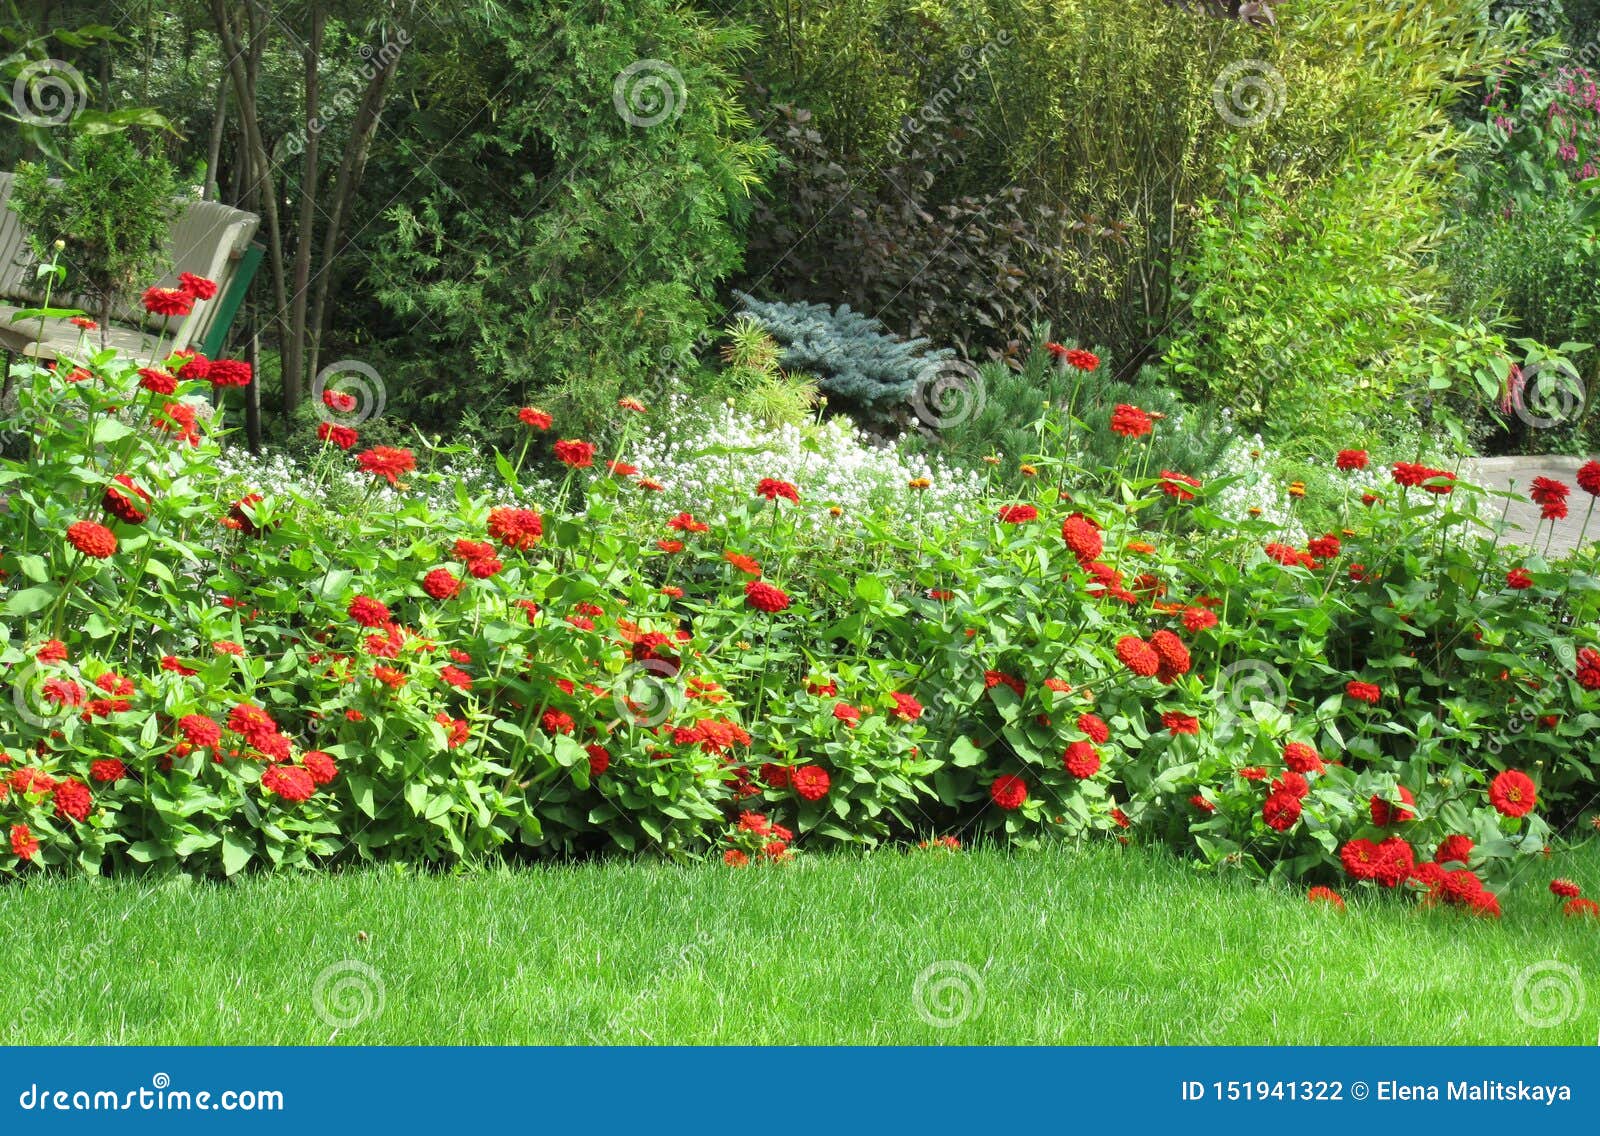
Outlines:
[{"label": "pale slatted wooden backrest of the garden bench", "polygon": [[[14,174],[0,173],[0,299],[19,302],[38,302],[43,290],[34,277],[37,262],[34,250],[27,242],[21,219],[6,208],[11,198]],[[195,310],[184,318],[173,334],[173,349],[179,350],[205,339],[211,328],[211,320],[221,310],[221,299],[227,294],[234,269],[240,256],[250,246],[250,238],[256,235],[261,219],[254,213],[245,213],[218,202],[200,202],[181,198],[178,214],[166,232],[166,254],[171,258],[171,270],[162,280],[152,282],[163,288],[178,286],[179,272],[192,272],[197,277],[214,280],[218,294],[205,304],[195,304]],[[70,280],[67,286],[70,288]],[[93,304],[83,296],[67,294],[51,301],[58,307],[83,307],[93,310]],[[112,318],[133,326],[160,328],[162,318],[146,314],[138,298],[131,298],[126,306],[117,307]],[[170,330],[171,331],[171,330]]]}]

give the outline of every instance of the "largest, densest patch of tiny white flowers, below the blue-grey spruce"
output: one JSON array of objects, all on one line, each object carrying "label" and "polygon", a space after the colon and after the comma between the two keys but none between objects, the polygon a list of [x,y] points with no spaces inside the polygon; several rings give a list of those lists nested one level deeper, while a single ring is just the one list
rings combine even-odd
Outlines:
[{"label": "largest, densest patch of tiny white flowers, below the blue-grey spruce", "polygon": [[[654,427],[629,442],[622,459],[662,485],[645,494],[653,512],[693,512],[718,520],[746,504],[763,477],[800,490],[797,515],[814,525],[867,515],[902,517],[918,506],[930,525],[954,526],[973,517],[984,477],[899,446],[875,442],[843,416],[819,424],[768,426],[730,406],[699,408],[688,400],[651,413]],[[928,488],[910,490],[926,478]]]}]

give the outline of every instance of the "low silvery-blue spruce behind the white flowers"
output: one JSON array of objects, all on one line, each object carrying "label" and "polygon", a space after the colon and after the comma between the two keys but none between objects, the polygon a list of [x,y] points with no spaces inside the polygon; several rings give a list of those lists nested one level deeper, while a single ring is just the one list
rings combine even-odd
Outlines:
[{"label": "low silvery-blue spruce behind the white flowers", "polygon": [[949,349],[928,350],[926,339],[899,339],[850,304],[830,309],[734,294],[784,349],[786,370],[814,374],[829,400],[869,422],[904,406],[917,381],[952,355]]}]

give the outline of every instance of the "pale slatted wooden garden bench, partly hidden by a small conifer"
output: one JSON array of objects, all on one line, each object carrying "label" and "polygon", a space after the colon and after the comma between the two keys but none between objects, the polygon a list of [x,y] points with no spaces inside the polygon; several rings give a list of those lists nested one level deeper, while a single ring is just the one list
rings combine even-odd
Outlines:
[{"label": "pale slatted wooden garden bench, partly hidden by a small conifer", "polygon": [[[40,341],[38,320],[13,323],[18,312],[42,306],[45,294],[35,275],[37,258],[27,242],[21,219],[6,203],[11,200],[14,176],[0,173],[0,349],[38,358],[59,358],[74,352],[80,342],[75,326],[66,320],[46,320]],[[168,350],[195,349],[206,357],[222,352],[227,331],[245,301],[245,291],[261,264],[261,246],[251,245],[261,219],[216,202],[184,198],[173,218],[166,238],[166,254],[171,272],[158,282],[162,288],[176,288],[179,272],[216,282],[216,296],[195,301],[194,310],[166,328]],[[94,317],[96,306],[70,293],[53,294],[51,307],[78,307]],[[106,346],[122,354],[144,355],[155,347],[162,330],[162,317],[149,315],[138,298],[123,302],[112,312],[112,325],[106,328]],[[86,344],[99,349],[99,333],[90,333]]]}]

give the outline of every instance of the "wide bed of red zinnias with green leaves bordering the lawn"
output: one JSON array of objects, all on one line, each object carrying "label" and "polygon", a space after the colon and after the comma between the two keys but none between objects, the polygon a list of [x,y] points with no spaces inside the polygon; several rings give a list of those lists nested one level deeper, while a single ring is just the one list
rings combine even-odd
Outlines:
[{"label": "wide bed of red zinnias with green leaves bordering the lawn", "polygon": [[[1040,422],[957,517],[912,478],[898,514],[818,523],[770,475],[640,531],[630,400],[614,454],[555,443],[539,509],[520,461],[451,494],[331,429],[309,493],[234,496],[206,376],[16,371],[0,870],[1104,834],[1493,914],[1595,776],[1592,557],[1470,534],[1478,491],[1442,470],[1400,462],[1290,544],[1144,469],[1160,424],[1118,406]],[[1051,456],[1086,429],[1117,469]],[[330,517],[317,485],[352,470]]]}]

